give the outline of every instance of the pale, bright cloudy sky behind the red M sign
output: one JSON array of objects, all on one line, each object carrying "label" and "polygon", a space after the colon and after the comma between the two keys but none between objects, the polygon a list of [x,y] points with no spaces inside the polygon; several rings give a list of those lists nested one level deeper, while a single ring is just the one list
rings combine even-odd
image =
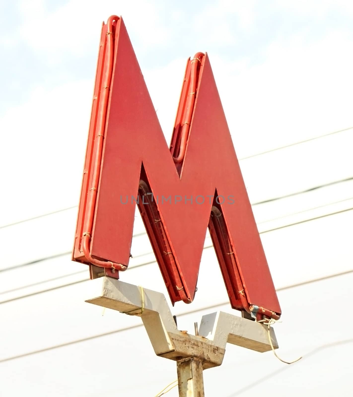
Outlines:
[{"label": "pale, bright cloudy sky behind the red M sign", "polygon": [[[348,0],[0,3],[0,395],[153,397],[176,378],[175,363],[154,355],[142,326],[94,337],[142,322],[85,303],[88,267],[68,254],[100,28],[112,14],[124,19],[168,143],[186,59],[207,51],[250,201],[291,195],[253,210],[283,312],[278,354],[304,358],[287,366],[272,352],[229,345],[222,366],[204,372],[206,396],[350,396],[353,273],[290,287],[353,271]],[[134,233],[143,230],[137,216]],[[131,250],[121,279],[166,293],[155,262],[134,269],[154,260],[147,236]],[[195,301],[173,308],[180,329],[216,310],[238,313],[220,271],[210,274],[215,263],[206,248]]]}]

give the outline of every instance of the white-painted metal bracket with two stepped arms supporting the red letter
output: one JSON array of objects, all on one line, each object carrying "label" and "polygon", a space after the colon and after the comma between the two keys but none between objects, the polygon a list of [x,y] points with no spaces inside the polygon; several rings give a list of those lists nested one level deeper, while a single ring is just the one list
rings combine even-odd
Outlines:
[{"label": "white-painted metal bracket with two stepped arms supporting the red letter", "polygon": [[[180,361],[197,357],[203,368],[222,364],[226,343],[258,352],[271,350],[268,328],[258,322],[224,312],[202,317],[199,335],[177,330],[162,293],[109,277],[90,281],[91,297],[86,302],[142,318],[156,355]],[[274,330],[270,336],[275,349]]]}]

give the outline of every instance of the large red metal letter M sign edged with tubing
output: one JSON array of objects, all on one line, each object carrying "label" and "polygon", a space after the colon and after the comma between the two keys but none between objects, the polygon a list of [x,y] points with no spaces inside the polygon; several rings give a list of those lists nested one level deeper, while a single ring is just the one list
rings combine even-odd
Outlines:
[{"label": "large red metal letter M sign edged with tubing", "polygon": [[102,28],[73,252],[91,265],[91,277],[94,267],[113,277],[127,268],[136,202],[173,303],[193,301],[208,227],[231,306],[258,306],[278,318],[207,54],[187,62],[168,148],[125,25],[110,17]]}]

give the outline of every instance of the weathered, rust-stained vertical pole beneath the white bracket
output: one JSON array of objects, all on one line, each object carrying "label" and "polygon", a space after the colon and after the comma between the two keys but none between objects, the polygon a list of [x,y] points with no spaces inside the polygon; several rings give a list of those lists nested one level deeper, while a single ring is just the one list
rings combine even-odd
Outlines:
[{"label": "weathered, rust-stained vertical pole beneath the white bracket", "polygon": [[204,397],[202,361],[196,357],[177,361],[179,397]]}]

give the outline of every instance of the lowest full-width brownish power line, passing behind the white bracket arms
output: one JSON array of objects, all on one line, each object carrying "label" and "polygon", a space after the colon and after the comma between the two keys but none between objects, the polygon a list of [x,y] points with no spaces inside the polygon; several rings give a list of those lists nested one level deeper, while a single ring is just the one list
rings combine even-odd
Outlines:
[{"label": "lowest full-width brownish power line, passing behind the white bracket arms", "polygon": [[[353,269],[352,269],[352,270],[348,270],[348,271],[346,271],[346,272],[341,272],[341,273],[332,274],[332,275],[330,275],[330,276],[324,276],[324,277],[321,277],[321,278],[316,278],[316,279],[311,279],[311,280],[303,281],[303,282],[301,282],[301,283],[296,283],[296,284],[292,284],[292,285],[287,285],[286,287],[281,287],[281,288],[276,289],[276,291],[284,291],[285,289],[291,289],[291,288],[299,287],[299,286],[301,286],[301,285],[306,285],[306,284],[309,284],[309,283],[313,283],[313,282],[317,282],[317,281],[321,281],[321,280],[325,280],[325,279],[329,279],[329,278],[334,278],[334,277],[338,277],[338,276],[343,276],[343,275],[349,274],[349,273],[353,273]],[[83,281],[87,281],[87,280],[83,280]],[[79,282],[82,282],[82,281],[79,281]],[[76,282],[76,283],[77,283],[77,282]],[[72,284],[75,284],[75,283],[72,283]],[[72,285],[72,284],[70,284],[70,285]],[[55,289],[56,289],[56,288],[55,288]],[[229,303],[228,301],[227,301],[227,302],[222,302],[222,303],[217,303],[217,304],[214,304],[214,305],[211,305],[211,306],[206,306],[206,307],[203,307],[203,308],[198,308],[198,309],[190,310],[190,311],[188,311],[188,312],[184,312],[184,313],[178,314],[177,316],[178,316],[178,317],[179,317],[179,316],[185,316],[185,315],[187,315],[187,314],[193,314],[193,313],[201,312],[201,311],[203,311],[203,310],[213,309],[213,308],[216,308],[216,307],[219,307],[219,306],[224,306],[225,304],[228,304],[228,303]],[[66,342],[66,343],[61,343],[60,345],[50,346],[50,347],[46,347],[46,348],[44,348],[44,349],[39,349],[39,350],[31,351],[31,352],[29,352],[29,353],[24,353],[24,354],[16,355],[16,356],[13,356],[13,357],[4,358],[4,359],[0,360],[0,362],[6,362],[6,361],[10,361],[10,360],[15,360],[16,358],[27,357],[27,356],[31,356],[31,355],[37,354],[37,353],[44,353],[44,352],[46,352],[46,351],[50,351],[50,350],[54,350],[54,349],[59,349],[60,347],[66,347],[66,346],[69,346],[69,345],[74,345],[75,343],[80,343],[80,342],[89,341],[89,340],[91,340],[91,339],[96,339],[96,338],[100,338],[100,337],[103,337],[103,336],[112,335],[112,334],[114,334],[114,333],[119,333],[119,332],[123,332],[123,331],[132,330],[132,329],[134,329],[134,328],[139,328],[139,327],[142,327],[142,326],[143,326],[143,324],[138,324],[138,325],[134,325],[134,326],[129,326],[129,327],[125,327],[125,328],[120,328],[120,329],[114,330],[114,331],[109,331],[109,332],[100,333],[100,334],[98,334],[98,335],[93,335],[93,336],[89,336],[89,337],[82,338],[82,339],[76,339],[76,340],[74,340],[74,341],[70,341],[70,342]],[[352,340],[353,340],[353,339],[352,339]],[[288,368],[288,367],[285,367],[285,368]]]}]

